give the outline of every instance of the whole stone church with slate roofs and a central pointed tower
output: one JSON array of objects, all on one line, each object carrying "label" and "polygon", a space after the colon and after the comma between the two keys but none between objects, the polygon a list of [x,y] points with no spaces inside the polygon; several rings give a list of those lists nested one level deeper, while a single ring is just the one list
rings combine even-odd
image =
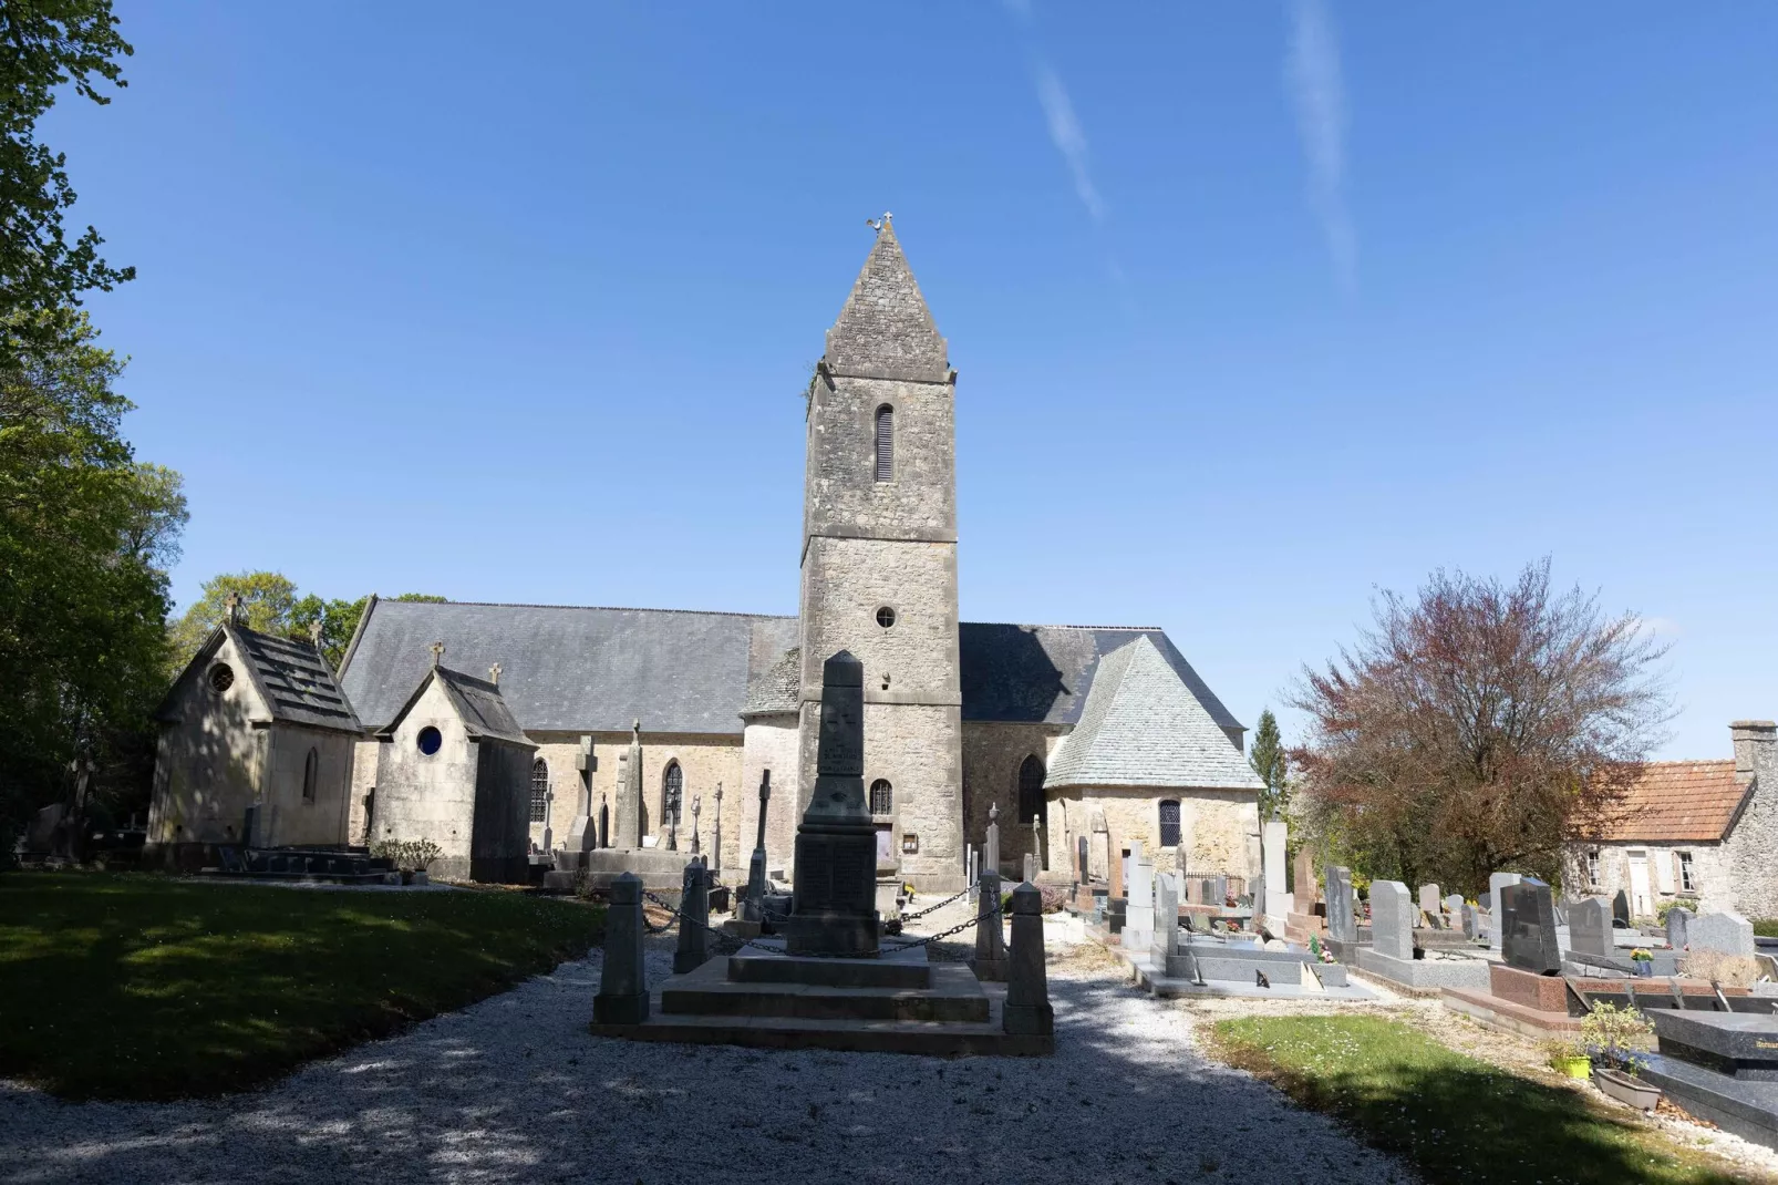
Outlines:
[{"label": "whole stone church with slate roofs and a central pointed tower", "polygon": [[1072,879],[1081,840],[1097,874],[1131,840],[1165,867],[1257,870],[1245,728],[1165,632],[958,621],[955,397],[885,215],[805,393],[798,616],[372,598],[338,673],[363,728],[340,842],[421,838],[379,824],[379,746],[443,653],[448,669],[500,667],[498,694],[535,746],[535,852],[587,843],[589,818],[640,781],[642,845],[683,861],[695,829],[738,879],[770,772],[768,863],[788,874],[821,662],[848,649],[866,673],[884,875],[960,886],[990,804],[1008,874],[1037,850]]}]

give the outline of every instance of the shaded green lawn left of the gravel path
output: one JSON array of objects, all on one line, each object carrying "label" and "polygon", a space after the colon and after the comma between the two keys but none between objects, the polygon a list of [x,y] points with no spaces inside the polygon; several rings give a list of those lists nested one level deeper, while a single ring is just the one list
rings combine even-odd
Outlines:
[{"label": "shaded green lawn left of the gravel path", "polygon": [[583,954],[603,922],[501,891],[4,874],[0,1076],[64,1098],[249,1087]]}]

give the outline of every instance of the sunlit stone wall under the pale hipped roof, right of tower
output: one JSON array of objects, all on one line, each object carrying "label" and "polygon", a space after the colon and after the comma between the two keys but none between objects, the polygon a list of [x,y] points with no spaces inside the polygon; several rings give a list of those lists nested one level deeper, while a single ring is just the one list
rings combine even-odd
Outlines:
[{"label": "sunlit stone wall under the pale hipped roof, right of tower", "polygon": [[[1179,847],[1161,847],[1161,802],[1179,801]],[[1095,815],[1102,815],[1111,847],[1125,849],[1141,840],[1157,872],[1225,872],[1252,877],[1250,836],[1259,833],[1259,801],[1252,790],[1193,790],[1159,786],[1085,786],[1051,792],[1049,867],[1065,872],[1077,863],[1081,836],[1088,838]],[[1106,870],[1092,867],[1093,875]]]}]

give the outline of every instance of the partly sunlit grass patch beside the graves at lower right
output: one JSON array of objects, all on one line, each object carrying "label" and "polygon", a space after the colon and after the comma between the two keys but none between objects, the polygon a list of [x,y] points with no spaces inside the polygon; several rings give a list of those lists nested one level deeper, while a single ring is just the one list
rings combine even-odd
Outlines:
[{"label": "partly sunlit grass patch beside the graves at lower right", "polygon": [[1218,1021],[1213,1043],[1234,1066],[1305,1107],[1337,1116],[1430,1181],[1504,1185],[1707,1185],[1718,1162],[1680,1149],[1591,1103],[1454,1053],[1399,1021],[1374,1016],[1280,1016]]}]

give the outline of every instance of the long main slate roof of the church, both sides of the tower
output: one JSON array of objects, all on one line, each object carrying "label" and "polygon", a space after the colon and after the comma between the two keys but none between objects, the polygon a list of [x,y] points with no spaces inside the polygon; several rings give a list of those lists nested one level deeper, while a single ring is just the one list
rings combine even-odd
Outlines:
[{"label": "long main slate roof of the church, both sides of the tower", "polygon": [[[1074,724],[1104,657],[1136,639],[1209,721],[1241,730],[1165,632],[1122,626],[965,621],[962,715]],[[802,692],[795,617],[373,600],[340,674],[368,728],[395,719],[430,667],[434,641],[444,642],[446,665],[501,664],[501,697],[533,733],[629,731],[640,719],[651,733],[734,735],[741,713],[795,712]]]}]

